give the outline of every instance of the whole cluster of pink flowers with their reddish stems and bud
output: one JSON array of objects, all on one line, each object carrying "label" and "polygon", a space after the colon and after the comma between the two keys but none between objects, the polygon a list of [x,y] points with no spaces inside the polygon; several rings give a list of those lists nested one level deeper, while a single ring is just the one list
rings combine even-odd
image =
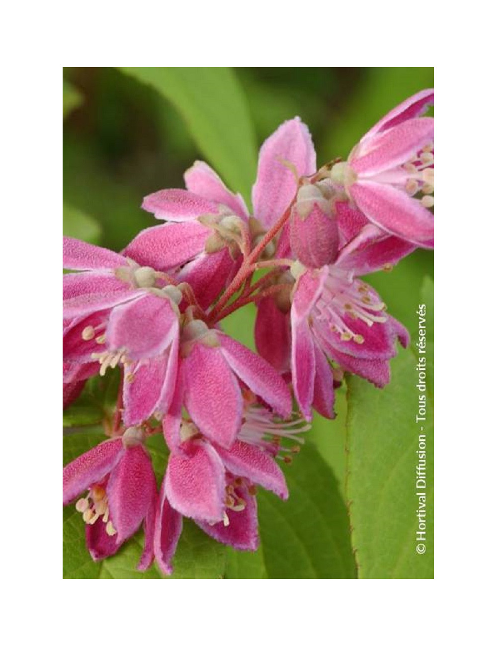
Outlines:
[{"label": "whole cluster of pink flowers with their reddish stems and bud", "polygon": [[[110,439],[63,472],[94,559],[143,523],[138,567],[155,559],[170,574],[184,516],[255,550],[256,486],[288,497],[278,460],[297,452],[313,409],[334,417],[344,371],[388,383],[408,333],[363,276],[433,246],[433,119],[421,116],[432,101],[407,99],[320,169],[307,127],[286,121],[260,149],[252,214],[196,162],[186,190],[145,198],[164,224],[122,253],[64,238],[64,404],[88,377],[122,373]],[[222,330],[249,302],[257,353]],[[157,432],[170,452],[160,491],[146,448]]]}]

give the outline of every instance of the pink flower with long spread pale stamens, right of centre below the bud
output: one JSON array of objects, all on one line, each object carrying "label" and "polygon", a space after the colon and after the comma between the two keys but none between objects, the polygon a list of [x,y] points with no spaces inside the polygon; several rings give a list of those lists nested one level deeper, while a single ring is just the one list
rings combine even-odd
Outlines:
[{"label": "pink flower with long spread pale stamens, right of centre below the bud", "polygon": [[293,267],[291,373],[295,398],[309,420],[312,407],[333,417],[333,374],[327,359],[381,387],[390,379],[388,360],[397,353],[397,338],[404,347],[408,344],[407,330],[385,313],[374,289],[355,278],[347,258],[321,269]]}]

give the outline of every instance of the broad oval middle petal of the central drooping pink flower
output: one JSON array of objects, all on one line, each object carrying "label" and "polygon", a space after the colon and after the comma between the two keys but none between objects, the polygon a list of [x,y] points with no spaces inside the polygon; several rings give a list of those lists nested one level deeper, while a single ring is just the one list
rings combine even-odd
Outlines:
[{"label": "broad oval middle petal of the central drooping pink flower", "polygon": [[201,342],[180,364],[184,404],[200,431],[229,448],[242,423],[242,395],[219,348]]}]

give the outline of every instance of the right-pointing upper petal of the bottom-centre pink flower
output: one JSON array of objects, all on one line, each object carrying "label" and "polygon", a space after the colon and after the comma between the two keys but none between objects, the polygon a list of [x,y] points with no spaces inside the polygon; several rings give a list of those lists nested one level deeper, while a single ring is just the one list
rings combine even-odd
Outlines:
[{"label": "right-pointing upper petal of the bottom-centre pink flower", "polygon": [[259,446],[235,441],[229,450],[218,448],[217,452],[227,470],[233,475],[246,477],[280,498],[288,498],[288,488],[282,470],[273,457]]}]

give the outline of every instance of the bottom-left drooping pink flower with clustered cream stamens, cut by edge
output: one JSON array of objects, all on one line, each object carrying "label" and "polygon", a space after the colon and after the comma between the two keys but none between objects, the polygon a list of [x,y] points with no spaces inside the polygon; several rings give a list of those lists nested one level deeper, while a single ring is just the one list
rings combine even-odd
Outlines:
[{"label": "bottom-left drooping pink flower with clustered cream stamens, cut by edge", "polygon": [[94,561],[112,556],[145,523],[145,548],[138,565],[153,560],[157,488],[152,464],[142,446],[143,433],[129,428],[83,453],[63,470],[63,504],[76,503],[86,523],[87,547]]}]

